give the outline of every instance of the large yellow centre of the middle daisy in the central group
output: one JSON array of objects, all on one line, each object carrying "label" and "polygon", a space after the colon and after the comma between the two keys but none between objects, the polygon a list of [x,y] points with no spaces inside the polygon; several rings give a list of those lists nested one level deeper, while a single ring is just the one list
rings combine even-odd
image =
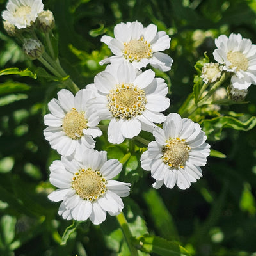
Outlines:
[{"label": "large yellow centre of the middle daisy in the central group", "polygon": [[118,84],[108,95],[108,109],[115,118],[141,115],[147,103],[144,90],[133,84]]}]

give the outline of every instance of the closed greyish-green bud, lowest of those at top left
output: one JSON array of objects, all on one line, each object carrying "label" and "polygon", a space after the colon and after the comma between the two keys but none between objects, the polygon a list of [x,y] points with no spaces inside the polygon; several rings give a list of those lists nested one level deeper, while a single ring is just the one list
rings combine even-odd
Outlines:
[{"label": "closed greyish-green bud, lowest of those at top left", "polygon": [[35,60],[40,58],[44,53],[44,45],[38,40],[28,39],[23,44],[23,50],[31,60]]}]

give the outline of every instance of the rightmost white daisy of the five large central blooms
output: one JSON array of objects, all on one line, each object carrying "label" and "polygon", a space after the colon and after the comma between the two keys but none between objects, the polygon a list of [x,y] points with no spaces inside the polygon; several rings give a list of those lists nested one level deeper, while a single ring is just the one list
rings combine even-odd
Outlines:
[{"label": "rightmost white daisy of the five large central blooms", "polygon": [[141,167],[151,171],[156,179],[154,188],[163,184],[173,188],[187,189],[191,182],[202,176],[200,166],[205,166],[210,154],[210,145],[199,124],[177,113],[166,116],[163,129],[155,127],[156,141],[148,144],[148,150],[141,155]]}]

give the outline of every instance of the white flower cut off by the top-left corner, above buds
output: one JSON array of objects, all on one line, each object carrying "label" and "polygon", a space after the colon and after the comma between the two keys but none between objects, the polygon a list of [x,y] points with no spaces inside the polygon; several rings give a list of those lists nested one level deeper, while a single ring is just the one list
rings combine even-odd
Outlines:
[{"label": "white flower cut off by the top-left corner, above buds", "polygon": [[44,9],[44,4],[42,0],[9,0],[6,9],[2,12],[3,19],[21,29],[35,22],[38,13]]}]

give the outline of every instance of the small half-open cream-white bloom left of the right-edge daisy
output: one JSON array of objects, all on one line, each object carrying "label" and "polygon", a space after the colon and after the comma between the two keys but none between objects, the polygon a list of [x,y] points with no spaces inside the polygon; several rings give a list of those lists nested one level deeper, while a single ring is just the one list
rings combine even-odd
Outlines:
[{"label": "small half-open cream-white bloom left of the right-edge daisy", "polygon": [[203,78],[205,84],[214,83],[221,77],[222,69],[219,63],[205,63],[200,77]]}]

